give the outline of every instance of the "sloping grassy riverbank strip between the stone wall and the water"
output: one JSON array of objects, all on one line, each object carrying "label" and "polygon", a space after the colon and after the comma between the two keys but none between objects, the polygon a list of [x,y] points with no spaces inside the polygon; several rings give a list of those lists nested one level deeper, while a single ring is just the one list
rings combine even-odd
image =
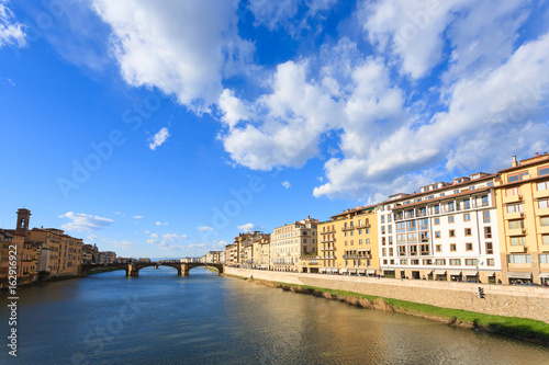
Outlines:
[{"label": "sloping grassy riverbank strip between the stone wall and the water", "polygon": [[473,329],[477,331],[485,331],[512,337],[523,341],[549,345],[549,323],[533,319],[484,315],[474,311],[441,308],[419,303],[382,298],[352,292],[269,282],[264,280],[251,280],[237,275],[226,276],[253,281],[256,284],[277,287],[287,292],[309,294],[326,299],[345,301],[349,305],[361,308],[394,311],[450,326]]}]

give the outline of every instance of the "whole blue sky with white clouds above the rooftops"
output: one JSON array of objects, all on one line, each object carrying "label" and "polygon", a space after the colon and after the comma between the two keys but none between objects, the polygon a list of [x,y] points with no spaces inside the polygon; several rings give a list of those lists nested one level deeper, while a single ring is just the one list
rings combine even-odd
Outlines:
[{"label": "whole blue sky with white clouds above the rooftops", "polygon": [[[49,5],[46,5],[49,3]],[[547,1],[0,0],[0,226],[200,255],[549,150]]]}]

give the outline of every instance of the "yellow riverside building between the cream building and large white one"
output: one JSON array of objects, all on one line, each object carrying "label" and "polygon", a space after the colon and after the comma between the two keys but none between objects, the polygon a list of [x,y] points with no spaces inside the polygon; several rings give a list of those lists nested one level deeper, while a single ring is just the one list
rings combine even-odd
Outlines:
[{"label": "yellow riverside building between the cream building and large white one", "polygon": [[379,271],[376,206],[347,209],[318,224],[318,272],[377,274]]}]

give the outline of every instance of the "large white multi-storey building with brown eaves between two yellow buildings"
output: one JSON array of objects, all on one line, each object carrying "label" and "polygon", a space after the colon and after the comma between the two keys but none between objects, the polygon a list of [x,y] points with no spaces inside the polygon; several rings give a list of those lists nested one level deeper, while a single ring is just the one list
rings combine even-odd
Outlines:
[{"label": "large white multi-storey building with brown eaves between two yellow buildings", "polygon": [[473,173],[378,206],[380,265],[388,277],[496,283],[501,278],[493,178]]}]

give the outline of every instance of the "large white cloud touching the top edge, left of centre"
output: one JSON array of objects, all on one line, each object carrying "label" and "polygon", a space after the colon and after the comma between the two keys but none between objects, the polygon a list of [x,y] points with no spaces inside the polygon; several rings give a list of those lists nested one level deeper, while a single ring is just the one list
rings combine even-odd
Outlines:
[{"label": "large white cloud touching the top edge, left of centre", "polygon": [[237,0],[93,0],[112,27],[112,53],[124,80],[157,87],[180,103],[206,112],[222,80],[247,62],[253,43],[238,36]]}]

